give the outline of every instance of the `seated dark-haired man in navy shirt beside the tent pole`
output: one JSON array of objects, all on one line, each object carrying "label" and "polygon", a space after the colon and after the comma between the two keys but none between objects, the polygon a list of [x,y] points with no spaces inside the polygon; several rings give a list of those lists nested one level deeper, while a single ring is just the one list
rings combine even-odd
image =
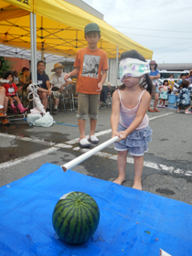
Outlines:
[{"label": "seated dark-haired man in navy shirt beside the tent pole", "polygon": [[[48,96],[51,95],[50,83],[48,75],[45,72],[46,63],[43,60],[37,62],[37,84],[38,84],[38,94],[44,105],[45,111],[48,107]],[[31,77],[30,77],[31,80]],[[31,81],[32,82],[32,81]]]}]

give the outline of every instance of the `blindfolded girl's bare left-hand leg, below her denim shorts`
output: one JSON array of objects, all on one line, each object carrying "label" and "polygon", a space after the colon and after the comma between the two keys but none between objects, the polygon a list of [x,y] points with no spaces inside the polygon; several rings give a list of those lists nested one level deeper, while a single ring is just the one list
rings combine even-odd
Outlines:
[{"label": "blindfolded girl's bare left-hand leg, below her denim shorts", "polygon": [[119,176],[113,182],[119,185],[122,185],[123,181],[125,180],[125,167],[127,163],[127,153],[128,153],[127,150],[118,151],[117,163],[118,163]]}]

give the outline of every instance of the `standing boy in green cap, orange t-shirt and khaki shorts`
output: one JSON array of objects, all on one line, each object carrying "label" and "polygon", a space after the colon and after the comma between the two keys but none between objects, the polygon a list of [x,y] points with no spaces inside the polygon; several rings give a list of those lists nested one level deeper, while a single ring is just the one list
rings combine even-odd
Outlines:
[{"label": "standing boy in green cap, orange t-shirt and khaki shorts", "polygon": [[[80,129],[79,143],[82,147],[90,146],[91,143],[99,143],[94,133],[99,114],[100,93],[108,70],[107,54],[97,47],[101,38],[100,27],[95,23],[88,24],[84,28],[84,34],[88,47],[78,51],[74,63],[75,69],[64,76],[64,79],[68,80],[71,76],[78,75],[76,88],[79,93],[77,117]],[[88,114],[91,124],[89,141],[85,136],[85,124]]]}]

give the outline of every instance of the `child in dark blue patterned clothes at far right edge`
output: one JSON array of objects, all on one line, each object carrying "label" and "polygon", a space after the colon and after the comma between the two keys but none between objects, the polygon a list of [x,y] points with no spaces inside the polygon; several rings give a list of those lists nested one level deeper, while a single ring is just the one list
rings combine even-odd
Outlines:
[{"label": "child in dark blue patterned clothes at far right edge", "polygon": [[177,111],[180,112],[180,108],[185,108],[185,113],[189,112],[191,107],[191,92],[192,87],[189,87],[189,80],[183,80],[180,85],[180,92],[178,94],[178,99],[176,101]]}]

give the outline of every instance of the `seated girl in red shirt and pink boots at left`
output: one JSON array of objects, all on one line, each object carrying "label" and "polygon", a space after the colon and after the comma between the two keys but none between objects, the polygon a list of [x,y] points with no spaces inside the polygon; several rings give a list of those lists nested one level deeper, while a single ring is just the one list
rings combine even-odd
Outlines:
[{"label": "seated girl in red shirt and pink boots at left", "polygon": [[[13,83],[14,75],[12,71],[5,72],[4,75],[5,80],[9,80],[9,83],[5,83],[5,95],[8,97],[11,108],[14,113],[16,113],[16,107],[19,110],[19,112],[23,113],[26,112],[28,108],[24,108],[20,99],[16,96],[16,92],[22,90],[22,87],[17,89],[16,83]],[[14,105],[14,100],[17,103],[17,106]]]}]

